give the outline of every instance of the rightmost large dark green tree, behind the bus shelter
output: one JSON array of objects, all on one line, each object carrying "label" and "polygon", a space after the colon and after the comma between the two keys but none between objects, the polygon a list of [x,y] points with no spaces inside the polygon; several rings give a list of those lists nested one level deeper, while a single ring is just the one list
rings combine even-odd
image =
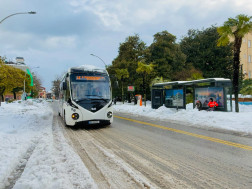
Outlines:
[{"label": "rightmost large dark green tree, behind the bus shelter", "polygon": [[181,50],[186,54],[186,64],[192,64],[202,72],[204,78],[232,77],[232,47],[218,47],[217,28],[189,30],[181,42]]}]

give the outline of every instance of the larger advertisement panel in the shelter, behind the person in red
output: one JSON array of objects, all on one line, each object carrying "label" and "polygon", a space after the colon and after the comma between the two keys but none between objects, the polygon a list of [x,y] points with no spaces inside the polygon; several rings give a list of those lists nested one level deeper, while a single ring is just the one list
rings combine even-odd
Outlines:
[{"label": "larger advertisement panel in the shelter, behind the person in red", "polygon": [[195,89],[195,103],[199,100],[202,107],[208,107],[209,99],[217,102],[219,107],[224,107],[224,91],[223,87],[208,87]]}]

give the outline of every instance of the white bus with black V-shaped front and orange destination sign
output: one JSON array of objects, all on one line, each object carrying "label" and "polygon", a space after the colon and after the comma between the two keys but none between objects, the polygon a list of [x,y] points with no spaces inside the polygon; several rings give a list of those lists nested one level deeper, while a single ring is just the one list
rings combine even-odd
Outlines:
[{"label": "white bus with black V-shaped front and orange destination sign", "polygon": [[94,66],[70,68],[60,83],[59,115],[66,126],[113,122],[108,72]]}]

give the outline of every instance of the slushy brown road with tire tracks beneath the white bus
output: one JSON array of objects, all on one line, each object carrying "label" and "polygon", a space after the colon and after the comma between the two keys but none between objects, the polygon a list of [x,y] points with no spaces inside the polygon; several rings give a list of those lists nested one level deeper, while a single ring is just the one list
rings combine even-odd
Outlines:
[{"label": "slushy brown road with tire tracks beneath the white bus", "polygon": [[[252,146],[250,137],[158,124]],[[119,118],[105,128],[65,128],[65,137],[99,188],[252,188],[252,151],[229,143]]]}]

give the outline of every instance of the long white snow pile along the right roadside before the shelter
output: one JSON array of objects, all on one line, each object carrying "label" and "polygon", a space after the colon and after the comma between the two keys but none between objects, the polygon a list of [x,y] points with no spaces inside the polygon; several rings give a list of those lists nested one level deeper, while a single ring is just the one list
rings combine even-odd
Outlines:
[{"label": "long white snow pile along the right roadside before the shelter", "polygon": [[146,116],[154,120],[176,121],[183,122],[183,124],[186,123],[185,125],[188,126],[211,127],[252,134],[252,105],[239,105],[240,113],[198,111],[197,109],[193,109],[192,103],[187,104],[186,110],[176,110],[175,108],[166,108],[165,106],[152,109],[150,102],[147,103],[146,107],[128,103],[117,103],[113,107],[115,112]]}]

